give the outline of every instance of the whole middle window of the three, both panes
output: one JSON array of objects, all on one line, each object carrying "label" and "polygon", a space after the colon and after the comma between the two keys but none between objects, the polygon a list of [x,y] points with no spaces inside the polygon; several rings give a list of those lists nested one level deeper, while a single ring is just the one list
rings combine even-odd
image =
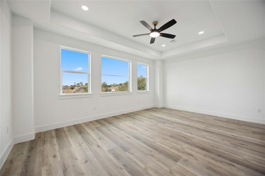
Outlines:
[{"label": "whole middle window of the three, both panes", "polygon": [[130,92],[130,61],[101,56],[101,92]]}]

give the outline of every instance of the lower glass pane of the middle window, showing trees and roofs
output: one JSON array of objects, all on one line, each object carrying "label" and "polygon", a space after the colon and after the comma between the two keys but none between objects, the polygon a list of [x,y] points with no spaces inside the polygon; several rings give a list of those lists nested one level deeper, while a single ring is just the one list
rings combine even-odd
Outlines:
[{"label": "lower glass pane of the middle window, showing trees and roofs", "polygon": [[101,75],[101,92],[129,92],[129,77]]}]

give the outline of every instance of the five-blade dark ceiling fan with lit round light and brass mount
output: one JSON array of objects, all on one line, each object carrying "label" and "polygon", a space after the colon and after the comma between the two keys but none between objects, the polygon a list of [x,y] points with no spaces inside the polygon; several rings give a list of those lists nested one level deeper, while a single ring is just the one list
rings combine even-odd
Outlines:
[{"label": "five-blade dark ceiling fan with lit round light and brass mount", "polygon": [[156,26],[158,24],[157,21],[154,21],[153,22],[153,25],[155,26],[154,29],[152,29],[151,26],[149,26],[145,21],[140,21],[140,23],[142,23],[142,25],[144,25],[151,32],[150,33],[147,33],[147,34],[133,35],[133,37],[139,37],[139,36],[149,35],[151,37],[150,44],[154,43],[156,37],[158,37],[158,36],[166,37],[166,38],[175,38],[176,37],[176,35],[167,34],[167,33],[160,33],[161,31],[164,31],[167,28],[170,28],[171,26],[173,26],[174,24],[176,24],[177,22],[174,19],[173,20],[170,20],[169,22],[167,22],[166,24],[164,24],[163,26],[161,26],[159,29],[156,29]]}]

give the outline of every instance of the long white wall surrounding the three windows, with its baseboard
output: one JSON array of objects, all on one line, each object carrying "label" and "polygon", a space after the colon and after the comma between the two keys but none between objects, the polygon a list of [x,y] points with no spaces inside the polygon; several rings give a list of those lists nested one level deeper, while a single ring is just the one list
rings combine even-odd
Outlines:
[{"label": "long white wall surrounding the three windows, with its baseboard", "polygon": [[[93,97],[59,99],[60,45],[91,52],[91,91]],[[133,94],[101,97],[101,54],[132,61]],[[136,94],[137,61],[149,64],[150,93]],[[34,28],[34,118],[36,132],[144,109],[153,105],[153,60]],[[93,107],[96,107],[96,110],[93,110]]]}]

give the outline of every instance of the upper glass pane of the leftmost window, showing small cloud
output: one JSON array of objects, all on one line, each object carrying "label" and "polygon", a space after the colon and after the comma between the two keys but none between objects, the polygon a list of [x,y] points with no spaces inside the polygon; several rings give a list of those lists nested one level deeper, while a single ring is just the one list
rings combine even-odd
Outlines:
[{"label": "upper glass pane of the leftmost window, showing small cloud", "polygon": [[61,49],[61,70],[88,72],[89,54]]}]

